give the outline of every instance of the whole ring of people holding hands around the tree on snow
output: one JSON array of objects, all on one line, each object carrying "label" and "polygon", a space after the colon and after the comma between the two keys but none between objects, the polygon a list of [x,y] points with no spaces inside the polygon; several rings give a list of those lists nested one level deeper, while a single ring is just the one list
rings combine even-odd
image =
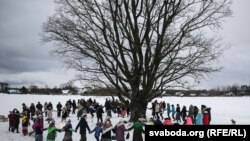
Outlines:
[{"label": "whole ring of people holding hands around the tree on snow", "polygon": [[[24,136],[34,135],[35,141],[43,141],[45,130],[48,131],[46,141],[55,141],[57,132],[64,132],[63,141],[72,141],[72,135],[78,129],[80,129],[80,141],[87,141],[87,132],[93,133],[96,141],[113,139],[125,141],[126,138],[129,138],[127,131],[134,130],[134,134],[137,135],[136,141],[143,141],[144,125],[209,125],[211,121],[211,108],[205,105],[201,105],[201,108],[190,105],[187,109],[185,105],[180,108],[179,104],[175,107],[174,104],[155,100],[148,109],[152,112],[151,117],[142,115],[131,123],[124,120],[125,117],[130,116],[129,100],[121,102],[117,99],[106,99],[102,105],[91,98],[77,101],[69,99],[64,105],[58,102],[55,107],[51,102],[44,104],[38,102],[36,105],[31,103],[30,106],[23,103],[21,112],[13,109],[8,115],[9,132],[19,133],[21,123],[22,134]],[[56,116],[53,116],[53,112],[56,112]],[[163,114],[166,116],[164,117]],[[96,117],[96,125],[92,130],[89,127],[87,115],[90,115],[91,118]],[[72,116],[77,117],[76,127],[72,126]],[[120,118],[115,125],[112,124],[112,116]],[[60,118],[63,123],[62,127],[55,126],[55,118]],[[48,127],[45,127],[45,122]],[[29,126],[32,131],[28,131]]]}]

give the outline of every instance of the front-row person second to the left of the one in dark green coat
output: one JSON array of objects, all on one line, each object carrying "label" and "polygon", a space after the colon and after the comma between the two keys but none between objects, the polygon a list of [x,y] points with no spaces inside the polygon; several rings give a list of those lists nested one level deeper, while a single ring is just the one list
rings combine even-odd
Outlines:
[{"label": "front-row person second to the left of the one in dark green coat", "polygon": [[107,117],[103,123],[102,129],[102,136],[101,141],[111,141],[111,131],[112,131],[112,123],[110,121],[110,117]]}]

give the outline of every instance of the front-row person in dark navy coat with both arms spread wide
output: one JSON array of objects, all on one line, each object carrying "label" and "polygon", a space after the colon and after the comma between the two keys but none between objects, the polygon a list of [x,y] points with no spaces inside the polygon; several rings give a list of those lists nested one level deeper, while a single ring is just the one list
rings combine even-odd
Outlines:
[{"label": "front-row person in dark navy coat with both arms spread wide", "polygon": [[87,118],[87,115],[86,114],[83,115],[75,129],[75,132],[77,132],[77,129],[80,127],[80,134],[81,134],[80,141],[87,141],[86,129],[88,129],[88,131],[90,132],[89,125],[86,121],[86,118]]}]

